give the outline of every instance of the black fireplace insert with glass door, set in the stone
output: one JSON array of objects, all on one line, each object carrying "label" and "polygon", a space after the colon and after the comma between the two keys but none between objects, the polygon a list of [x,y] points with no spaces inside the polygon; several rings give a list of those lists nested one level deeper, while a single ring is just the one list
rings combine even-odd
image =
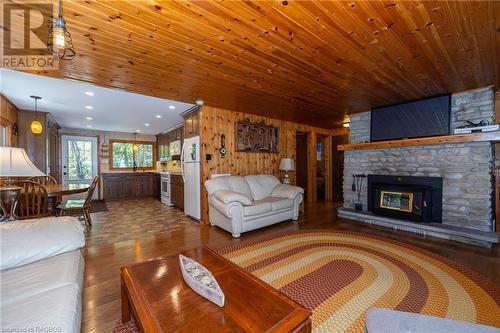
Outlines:
[{"label": "black fireplace insert with glass door, set in the stone", "polygon": [[368,210],[415,222],[442,221],[441,177],[368,176]]}]

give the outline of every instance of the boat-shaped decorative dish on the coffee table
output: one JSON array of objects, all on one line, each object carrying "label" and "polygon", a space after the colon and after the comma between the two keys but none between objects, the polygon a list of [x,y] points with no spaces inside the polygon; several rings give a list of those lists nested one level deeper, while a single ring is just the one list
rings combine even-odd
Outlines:
[{"label": "boat-shaped decorative dish on the coffee table", "polygon": [[191,258],[179,254],[179,266],[184,281],[201,296],[220,307],[224,306],[225,296],[213,277],[205,267]]}]

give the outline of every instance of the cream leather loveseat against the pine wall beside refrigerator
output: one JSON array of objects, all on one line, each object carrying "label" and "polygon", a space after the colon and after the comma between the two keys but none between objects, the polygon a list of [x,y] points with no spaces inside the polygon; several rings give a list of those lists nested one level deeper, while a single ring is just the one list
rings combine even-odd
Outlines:
[{"label": "cream leather loveseat against the pine wall beside refrigerator", "polygon": [[209,220],[233,237],[299,217],[304,190],[273,175],[223,176],[205,181]]}]

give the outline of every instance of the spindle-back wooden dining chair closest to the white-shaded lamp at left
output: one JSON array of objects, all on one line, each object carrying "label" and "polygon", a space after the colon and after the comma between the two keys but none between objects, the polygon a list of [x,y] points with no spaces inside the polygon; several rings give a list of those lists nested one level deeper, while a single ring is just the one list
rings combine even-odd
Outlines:
[{"label": "spindle-back wooden dining chair closest to the white-shaded lamp at left", "polygon": [[45,217],[50,214],[47,190],[43,185],[31,180],[16,181],[15,185],[21,187],[16,209],[20,220]]}]

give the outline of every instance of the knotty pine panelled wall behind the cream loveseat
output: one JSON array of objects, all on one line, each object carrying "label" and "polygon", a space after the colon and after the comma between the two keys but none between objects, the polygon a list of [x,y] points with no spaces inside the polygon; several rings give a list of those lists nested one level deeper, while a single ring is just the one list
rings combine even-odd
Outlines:
[{"label": "knotty pine panelled wall behind the cream loveseat", "polygon": [[[212,174],[230,173],[232,175],[274,174],[283,177],[279,170],[280,159],[291,157],[295,160],[295,136],[297,131],[309,133],[308,158],[308,201],[316,200],[316,138],[326,137],[325,151],[327,173],[331,175],[332,136],[346,133],[346,129],[322,129],[308,125],[297,124],[285,120],[255,116],[247,113],[234,112],[213,106],[203,106],[200,110],[201,139],[201,182],[202,182],[202,221],[208,222],[208,199],[203,183]],[[249,118],[251,121],[265,121],[266,124],[279,128],[279,153],[249,153],[235,151],[235,124]],[[221,135],[226,136],[227,154],[221,157]],[[211,160],[206,155],[211,154]],[[295,184],[295,172],[289,172],[292,184]],[[331,179],[327,181],[327,199],[332,196]]]}]

